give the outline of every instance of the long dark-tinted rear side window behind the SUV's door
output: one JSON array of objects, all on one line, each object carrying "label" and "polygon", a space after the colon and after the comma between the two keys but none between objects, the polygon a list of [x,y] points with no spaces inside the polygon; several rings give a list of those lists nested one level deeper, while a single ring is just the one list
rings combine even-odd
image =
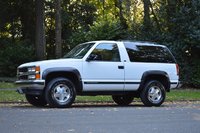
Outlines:
[{"label": "long dark-tinted rear side window behind the SUV's door", "polygon": [[131,62],[174,63],[174,57],[166,47],[124,43]]}]

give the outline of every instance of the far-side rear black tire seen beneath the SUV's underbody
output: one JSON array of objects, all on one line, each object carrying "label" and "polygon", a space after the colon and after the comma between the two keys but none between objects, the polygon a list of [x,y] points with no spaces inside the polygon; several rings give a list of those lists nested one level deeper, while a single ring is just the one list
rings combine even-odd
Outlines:
[{"label": "far-side rear black tire seen beneath the SUV's underbody", "polygon": [[120,106],[127,106],[133,101],[134,97],[131,95],[113,95],[112,99]]}]

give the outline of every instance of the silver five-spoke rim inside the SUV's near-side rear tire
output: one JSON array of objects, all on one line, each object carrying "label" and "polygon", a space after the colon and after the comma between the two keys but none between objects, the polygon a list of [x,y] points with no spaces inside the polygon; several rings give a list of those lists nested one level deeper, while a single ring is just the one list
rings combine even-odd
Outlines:
[{"label": "silver five-spoke rim inside the SUV's near-side rear tire", "polygon": [[152,103],[159,103],[162,100],[162,92],[160,87],[151,86],[148,91],[148,99]]}]

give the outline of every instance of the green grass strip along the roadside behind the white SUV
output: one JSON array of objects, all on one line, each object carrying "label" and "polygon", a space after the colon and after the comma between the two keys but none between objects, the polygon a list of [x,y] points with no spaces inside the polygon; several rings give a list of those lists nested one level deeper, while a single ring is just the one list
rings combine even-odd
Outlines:
[{"label": "green grass strip along the roadside behind the white SUV", "polygon": [[[16,88],[13,83],[0,83],[0,102],[26,102],[25,96],[18,94],[14,90],[6,88]],[[136,99],[137,100],[137,99]],[[187,101],[200,100],[200,90],[178,89],[167,93],[166,101]],[[76,102],[111,102],[111,96],[77,96]]]}]

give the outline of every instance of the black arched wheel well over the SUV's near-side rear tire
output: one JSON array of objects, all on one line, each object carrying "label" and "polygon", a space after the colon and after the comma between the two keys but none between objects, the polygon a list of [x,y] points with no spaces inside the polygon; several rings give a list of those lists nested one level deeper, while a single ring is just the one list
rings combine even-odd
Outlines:
[{"label": "black arched wheel well over the SUV's near-side rear tire", "polygon": [[168,77],[166,77],[164,75],[157,75],[157,74],[156,75],[148,75],[142,82],[143,83],[142,88],[145,85],[145,83],[150,81],[150,80],[157,80],[157,81],[161,82],[164,85],[165,90],[167,92],[170,91],[170,82],[169,82]]}]

